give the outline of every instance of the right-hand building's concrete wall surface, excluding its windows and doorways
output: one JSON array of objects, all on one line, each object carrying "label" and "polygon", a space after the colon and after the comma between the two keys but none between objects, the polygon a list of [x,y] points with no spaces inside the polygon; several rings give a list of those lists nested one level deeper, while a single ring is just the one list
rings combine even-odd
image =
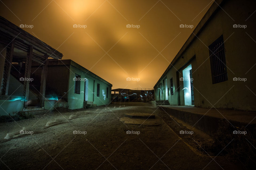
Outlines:
[{"label": "right-hand building's concrete wall surface, excluding its windows and doorways", "polygon": [[[168,98],[170,104],[185,104],[184,92],[181,91],[183,81],[177,83],[176,72],[177,70],[180,72],[178,73],[179,80],[182,77],[182,70],[191,64],[195,106],[208,108],[212,107],[211,104],[213,104],[216,108],[256,110],[256,96],[254,95],[256,67],[253,67],[256,63],[254,42],[256,35],[254,25],[251,25],[256,20],[256,15],[251,15],[255,11],[254,6],[255,2],[253,1],[223,1],[221,4],[223,10],[218,9],[210,17],[197,34],[198,38],[195,37],[192,40],[192,43],[175,62],[174,67],[171,67],[167,72],[166,78],[169,90],[170,78],[172,77],[174,86],[174,95]],[[245,22],[247,18],[249,19]],[[247,27],[245,29],[233,28],[233,24],[247,25]],[[221,35],[223,35],[225,44],[228,80],[212,84],[208,46]],[[183,58],[181,58],[182,56]],[[194,59],[191,60],[193,57]],[[249,69],[251,70],[248,71]],[[247,81],[233,81],[234,77],[247,78]],[[159,83],[162,83],[164,79],[162,78]],[[158,88],[158,84],[156,84],[155,90]],[[177,84],[180,85],[179,91],[175,91],[178,87]],[[160,98],[156,93],[156,100],[165,100],[164,94],[165,92]],[[178,96],[180,97],[179,100]]]}]

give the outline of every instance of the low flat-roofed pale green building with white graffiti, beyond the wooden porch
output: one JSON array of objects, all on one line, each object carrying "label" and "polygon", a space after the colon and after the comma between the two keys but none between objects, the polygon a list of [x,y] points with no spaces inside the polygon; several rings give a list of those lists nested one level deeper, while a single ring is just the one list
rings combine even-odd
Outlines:
[{"label": "low flat-roofed pale green building with white graffiti, beyond the wooden porch", "polygon": [[[107,105],[112,84],[72,60],[48,60],[46,97],[59,100],[55,107],[69,109]],[[58,75],[58,76],[57,76]]]}]

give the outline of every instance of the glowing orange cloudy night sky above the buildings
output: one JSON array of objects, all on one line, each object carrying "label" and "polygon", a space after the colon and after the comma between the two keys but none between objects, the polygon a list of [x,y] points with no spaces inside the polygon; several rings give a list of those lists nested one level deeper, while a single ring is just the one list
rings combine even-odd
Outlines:
[{"label": "glowing orange cloudy night sky above the buildings", "polygon": [[[23,29],[61,52],[62,59],[71,59],[113,84],[112,89],[153,88],[212,3],[2,0],[0,15],[18,26],[33,25]],[[127,77],[140,81],[126,81]]]}]

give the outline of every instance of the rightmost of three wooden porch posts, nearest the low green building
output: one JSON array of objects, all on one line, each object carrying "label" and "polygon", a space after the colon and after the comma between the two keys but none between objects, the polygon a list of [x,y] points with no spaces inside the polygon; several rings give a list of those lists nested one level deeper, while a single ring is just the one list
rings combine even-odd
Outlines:
[{"label": "rightmost of three wooden porch posts, nearest the low green building", "polygon": [[47,77],[47,66],[48,66],[48,55],[45,55],[45,63],[43,65],[42,74],[41,74],[40,97],[39,97],[39,102],[41,107],[45,106],[45,86],[46,86],[46,77]]}]

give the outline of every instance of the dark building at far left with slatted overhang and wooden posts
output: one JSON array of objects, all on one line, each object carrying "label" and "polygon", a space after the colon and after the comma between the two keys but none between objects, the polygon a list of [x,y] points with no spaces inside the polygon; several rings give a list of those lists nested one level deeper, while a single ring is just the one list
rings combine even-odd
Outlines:
[{"label": "dark building at far left with slatted overhang and wooden posts", "polygon": [[50,109],[47,59],[61,59],[62,53],[1,16],[0,37],[0,114]]}]

